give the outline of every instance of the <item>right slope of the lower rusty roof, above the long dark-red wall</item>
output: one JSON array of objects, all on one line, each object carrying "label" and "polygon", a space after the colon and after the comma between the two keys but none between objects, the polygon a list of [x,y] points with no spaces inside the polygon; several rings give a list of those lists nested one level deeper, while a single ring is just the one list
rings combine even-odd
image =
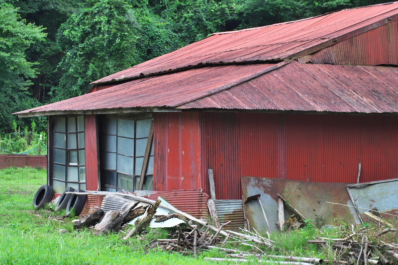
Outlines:
[{"label": "right slope of the lower rusty roof, above the long dark-red wall", "polygon": [[398,112],[397,79],[396,67],[293,62],[179,108]]}]

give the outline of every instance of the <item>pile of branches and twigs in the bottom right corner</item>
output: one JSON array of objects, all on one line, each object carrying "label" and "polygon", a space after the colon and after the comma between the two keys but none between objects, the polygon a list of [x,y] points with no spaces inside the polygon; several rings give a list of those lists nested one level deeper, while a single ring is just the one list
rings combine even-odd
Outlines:
[{"label": "pile of branches and twigs in the bottom right corner", "polygon": [[398,244],[391,239],[398,238],[397,229],[393,225],[367,213],[378,221],[368,227],[348,230],[349,234],[342,238],[325,238],[307,241],[310,244],[319,244],[332,251],[334,261],[340,264],[377,264],[391,265],[398,262]]}]

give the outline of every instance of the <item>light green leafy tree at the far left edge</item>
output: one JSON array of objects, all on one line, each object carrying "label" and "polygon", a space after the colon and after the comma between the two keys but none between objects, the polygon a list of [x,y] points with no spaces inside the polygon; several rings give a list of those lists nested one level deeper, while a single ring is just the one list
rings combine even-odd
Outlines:
[{"label": "light green leafy tree at the far left edge", "polygon": [[[27,91],[37,72],[36,63],[27,61],[26,50],[44,40],[42,31],[26,24],[11,4],[0,2],[0,132],[11,129],[16,118],[11,113],[38,105]],[[23,122],[18,120],[20,125]]]}]

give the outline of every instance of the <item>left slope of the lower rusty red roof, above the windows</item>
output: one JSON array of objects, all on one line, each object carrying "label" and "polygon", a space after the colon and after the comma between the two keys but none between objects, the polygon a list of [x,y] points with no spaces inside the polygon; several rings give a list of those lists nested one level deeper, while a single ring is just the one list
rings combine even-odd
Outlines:
[{"label": "left slope of the lower rusty red roof, above the windows", "polygon": [[275,64],[204,67],[134,80],[112,88],[17,112],[85,111],[132,107],[176,107],[261,74]]}]

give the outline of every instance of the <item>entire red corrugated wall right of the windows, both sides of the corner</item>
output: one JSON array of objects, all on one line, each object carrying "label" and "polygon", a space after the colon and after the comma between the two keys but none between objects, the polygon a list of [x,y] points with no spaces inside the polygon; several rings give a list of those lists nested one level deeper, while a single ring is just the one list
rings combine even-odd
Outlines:
[{"label": "entire red corrugated wall right of the windows, both sides of the corner", "polygon": [[[199,128],[200,118],[200,128]],[[233,112],[155,114],[156,190],[241,199],[242,176],[321,182],[398,177],[398,116]]]}]

